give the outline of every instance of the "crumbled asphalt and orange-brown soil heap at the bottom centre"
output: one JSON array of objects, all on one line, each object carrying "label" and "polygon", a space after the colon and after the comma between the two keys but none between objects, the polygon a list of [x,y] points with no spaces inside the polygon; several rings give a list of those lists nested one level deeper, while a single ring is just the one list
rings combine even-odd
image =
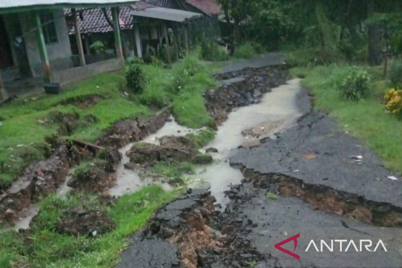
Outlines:
[{"label": "crumbled asphalt and orange-brown soil heap at the bottom centre", "polygon": [[[260,258],[259,254],[250,241],[227,226],[226,219],[214,210],[214,200],[206,190],[193,190],[157,211],[148,227],[134,236],[136,242],[123,252],[118,267],[156,267],[152,263],[162,259],[164,263],[158,267],[178,267],[180,262],[184,267],[211,267],[217,262],[227,267],[248,267]],[[158,251],[164,241],[173,246],[161,256],[146,249],[146,244],[153,243]]]}]

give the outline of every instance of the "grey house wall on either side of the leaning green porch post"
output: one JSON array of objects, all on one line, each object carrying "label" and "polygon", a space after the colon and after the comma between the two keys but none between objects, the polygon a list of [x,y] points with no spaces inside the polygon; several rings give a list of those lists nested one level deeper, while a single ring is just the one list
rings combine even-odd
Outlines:
[{"label": "grey house wall on either side of the leaning green porch post", "polygon": [[[35,15],[32,12],[19,14],[28,60],[33,76],[43,74],[35,28]],[[72,67],[71,47],[67,23],[63,10],[54,10],[53,18],[57,33],[57,43],[46,45],[50,66],[53,71]]]}]

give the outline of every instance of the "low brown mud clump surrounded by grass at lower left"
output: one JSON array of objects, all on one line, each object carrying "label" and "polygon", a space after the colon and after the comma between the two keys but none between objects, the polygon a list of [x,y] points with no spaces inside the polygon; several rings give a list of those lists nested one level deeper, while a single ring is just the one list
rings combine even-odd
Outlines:
[{"label": "low brown mud clump surrounded by grass at lower left", "polygon": [[68,235],[96,236],[110,232],[115,227],[115,222],[105,212],[75,208],[64,212],[56,230]]}]

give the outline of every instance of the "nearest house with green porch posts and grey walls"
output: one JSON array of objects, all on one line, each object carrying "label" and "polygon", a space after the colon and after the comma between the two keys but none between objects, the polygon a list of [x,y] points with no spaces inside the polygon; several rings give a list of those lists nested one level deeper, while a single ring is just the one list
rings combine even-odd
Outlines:
[{"label": "nearest house with green porch posts and grey walls", "polygon": [[[138,0],[19,0],[0,2],[0,89],[9,92],[45,82],[65,84],[124,66],[119,7]],[[76,9],[108,8],[113,21],[114,57],[87,64],[81,38],[71,44],[64,9],[77,25]],[[74,27],[80,36],[79,28]],[[74,64],[72,45],[77,47]],[[14,94],[14,92],[13,92]],[[0,96],[4,99],[4,96]]]}]

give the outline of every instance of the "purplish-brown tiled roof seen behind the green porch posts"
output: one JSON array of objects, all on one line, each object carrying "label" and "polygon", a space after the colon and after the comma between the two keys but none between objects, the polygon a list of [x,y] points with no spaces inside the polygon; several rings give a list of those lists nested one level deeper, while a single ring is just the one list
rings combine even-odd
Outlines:
[{"label": "purplish-brown tiled roof seen behind the green porch posts", "polygon": [[[133,27],[133,16],[130,14],[132,11],[135,10],[143,10],[146,8],[155,7],[145,1],[139,1],[136,5],[132,6],[124,6],[120,7],[119,12],[119,24],[120,29],[128,30]],[[109,25],[108,21],[106,20],[102,9],[77,9],[79,13],[78,16],[78,25],[79,31],[82,34],[86,33],[107,33],[112,32],[113,28]],[[111,22],[112,19],[112,12],[110,8],[106,8],[106,13]],[[71,9],[64,9],[64,14],[67,16],[71,15]],[[69,23],[69,33],[74,33],[74,27],[72,23]]]}]

